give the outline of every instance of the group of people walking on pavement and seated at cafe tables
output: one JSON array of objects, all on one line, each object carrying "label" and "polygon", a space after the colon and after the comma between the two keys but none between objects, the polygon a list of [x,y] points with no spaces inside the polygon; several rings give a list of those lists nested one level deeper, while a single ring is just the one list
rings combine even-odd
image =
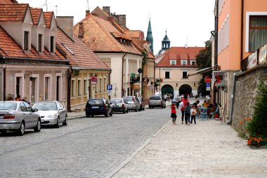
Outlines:
[{"label": "group of people walking on pavement and seated at cafe tables", "polygon": [[180,107],[181,108],[181,121],[183,124],[183,121],[185,121],[185,124],[190,125],[190,123],[194,123],[196,124],[195,121],[195,117],[197,114],[197,108],[198,107],[207,107],[207,108],[211,108],[211,107],[217,107],[216,102],[214,104],[212,104],[211,102],[207,102],[206,100],[204,100],[202,106],[200,105],[200,101],[197,100],[196,102],[194,102],[193,104],[190,104],[189,99],[188,99],[188,95],[184,95],[183,98],[181,99],[181,101],[179,101],[177,104],[172,103],[171,104],[171,118],[172,118],[172,123],[175,125],[176,124],[176,109]]}]

